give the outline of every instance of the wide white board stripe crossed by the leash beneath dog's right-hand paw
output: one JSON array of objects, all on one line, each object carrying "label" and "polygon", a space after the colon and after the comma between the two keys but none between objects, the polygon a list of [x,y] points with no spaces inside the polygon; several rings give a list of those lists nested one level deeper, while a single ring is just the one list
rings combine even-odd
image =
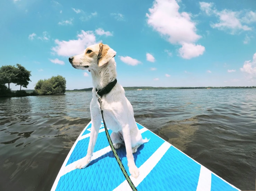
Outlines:
[{"label": "wide white board stripe crossed by the leash beneath dog's right-hand paw", "polygon": [[[171,144],[168,142],[164,142],[152,155],[149,159],[144,162],[139,168],[140,175],[137,179],[130,176],[133,184],[137,187],[144,178],[150,173],[150,171],[156,166],[156,164],[161,160],[166,151],[171,147]],[[113,191],[124,191],[124,190],[132,190],[128,182],[125,180],[118,187],[116,187]]]}]

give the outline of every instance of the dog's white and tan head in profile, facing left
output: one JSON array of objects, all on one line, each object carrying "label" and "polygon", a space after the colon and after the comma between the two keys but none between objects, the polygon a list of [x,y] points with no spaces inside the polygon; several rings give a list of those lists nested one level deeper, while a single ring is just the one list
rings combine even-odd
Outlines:
[{"label": "dog's white and tan head in profile, facing left", "polygon": [[87,47],[82,54],[70,57],[69,62],[77,69],[98,70],[115,56],[116,52],[107,44],[99,43]]}]

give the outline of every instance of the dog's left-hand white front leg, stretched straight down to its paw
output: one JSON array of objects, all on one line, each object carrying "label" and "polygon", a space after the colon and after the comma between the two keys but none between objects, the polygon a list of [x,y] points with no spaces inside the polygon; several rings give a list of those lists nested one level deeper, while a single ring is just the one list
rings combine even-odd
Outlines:
[{"label": "dog's left-hand white front leg, stretched straight down to its paw", "polygon": [[100,113],[97,113],[96,115],[92,115],[91,132],[90,132],[89,145],[88,145],[88,149],[87,149],[87,155],[86,155],[86,157],[81,159],[79,164],[77,164],[77,166],[76,166],[77,169],[83,169],[83,168],[87,167],[87,165],[90,163],[91,157],[92,157],[92,154],[94,151],[95,143],[97,141],[100,126],[101,126]]}]

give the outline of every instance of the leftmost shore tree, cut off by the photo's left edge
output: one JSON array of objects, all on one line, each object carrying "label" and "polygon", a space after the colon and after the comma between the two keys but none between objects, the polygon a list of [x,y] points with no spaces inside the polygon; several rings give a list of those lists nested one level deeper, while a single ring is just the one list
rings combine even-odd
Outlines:
[{"label": "leftmost shore tree, cut off by the photo's left edge", "polygon": [[0,82],[2,84],[8,83],[8,89],[10,90],[10,83],[16,81],[17,68],[15,66],[6,65],[0,68]]}]

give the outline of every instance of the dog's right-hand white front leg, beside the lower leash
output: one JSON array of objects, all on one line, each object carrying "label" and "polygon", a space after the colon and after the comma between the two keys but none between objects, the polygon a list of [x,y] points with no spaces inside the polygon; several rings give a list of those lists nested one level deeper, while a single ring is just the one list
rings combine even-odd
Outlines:
[{"label": "dog's right-hand white front leg, beside the lower leash", "polygon": [[124,143],[125,143],[126,157],[127,157],[127,161],[128,161],[129,172],[132,175],[132,177],[138,178],[140,172],[134,162],[134,158],[133,158],[133,154],[132,154],[130,128],[129,128],[128,124],[126,124],[122,128],[122,132],[123,132],[123,138],[124,138]]}]

